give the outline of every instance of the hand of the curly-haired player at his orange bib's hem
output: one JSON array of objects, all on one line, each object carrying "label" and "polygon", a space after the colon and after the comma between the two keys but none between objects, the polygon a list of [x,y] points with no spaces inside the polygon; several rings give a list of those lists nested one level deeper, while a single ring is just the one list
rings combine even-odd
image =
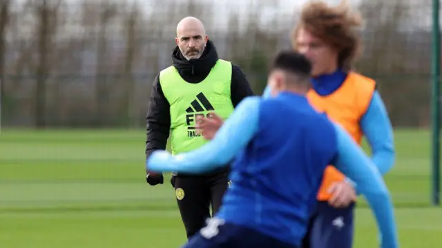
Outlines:
[{"label": "hand of the curly-haired player at his orange bib's hem", "polygon": [[356,201],[356,191],[347,181],[335,182],[328,190],[332,194],[329,204],[333,207],[348,207],[349,204]]}]

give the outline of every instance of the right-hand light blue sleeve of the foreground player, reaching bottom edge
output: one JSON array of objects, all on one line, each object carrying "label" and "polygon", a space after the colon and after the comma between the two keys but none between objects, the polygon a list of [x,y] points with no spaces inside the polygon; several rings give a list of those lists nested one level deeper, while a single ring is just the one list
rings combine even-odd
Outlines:
[{"label": "right-hand light blue sleeve of the foreground player, reaching bottom edge", "polygon": [[358,190],[372,208],[381,234],[381,248],[398,248],[392,199],[381,173],[347,132],[335,126],[338,140],[336,169],[358,184]]}]

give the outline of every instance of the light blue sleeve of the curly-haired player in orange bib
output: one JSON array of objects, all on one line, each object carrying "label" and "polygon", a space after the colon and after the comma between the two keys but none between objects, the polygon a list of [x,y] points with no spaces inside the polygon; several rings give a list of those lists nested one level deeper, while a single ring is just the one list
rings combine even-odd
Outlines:
[{"label": "light blue sleeve of the curly-haired player in orange bib", "polygon": [[384,175],[394,165],[394,137],[390,118],[377,91],[361,119],[361,128],[372,150],[372,161]]}]

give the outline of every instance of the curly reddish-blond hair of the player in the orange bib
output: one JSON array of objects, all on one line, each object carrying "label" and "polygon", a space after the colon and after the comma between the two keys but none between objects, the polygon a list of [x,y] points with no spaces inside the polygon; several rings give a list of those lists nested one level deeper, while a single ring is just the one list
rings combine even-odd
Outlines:
[{"label": "curly reddish-blond hair of the player in the orange bib", "polygon": [[361,15],[352,12],[347,1],[328,6],[323,1],[310,1],[303,6],[300,20],[291,37],[296,49],[296,37],[304,29],[338,51],[338,66],[350,70],[361,52],[361,39],[356,28],[362,24]]}]

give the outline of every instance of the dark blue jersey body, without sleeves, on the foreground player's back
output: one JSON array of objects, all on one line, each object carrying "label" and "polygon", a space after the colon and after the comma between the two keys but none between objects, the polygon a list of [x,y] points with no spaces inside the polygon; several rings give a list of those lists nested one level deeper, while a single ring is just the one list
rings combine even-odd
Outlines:
[{"label": "dark blue jersey body, without sleeves, on the foreground player's back", "polygon": [[250,105],[254,135],[233,164],[232,187],[218,216],[299,245],[325,166],[336,155],[334,126],[299,95]]}]

